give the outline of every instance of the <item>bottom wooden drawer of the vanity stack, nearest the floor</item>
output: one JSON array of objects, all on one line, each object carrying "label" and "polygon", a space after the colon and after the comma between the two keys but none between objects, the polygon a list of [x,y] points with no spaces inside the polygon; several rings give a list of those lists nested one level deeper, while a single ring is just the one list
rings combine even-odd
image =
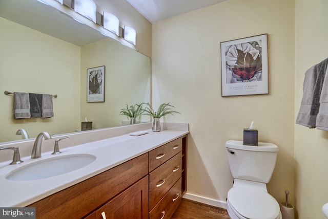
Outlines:
[{"label": "bottom wooden drawer of the vanity stack, nearest the floor", "polygon": [[181,203],[181,178],[150,211],[149,219],[169,219]]}]

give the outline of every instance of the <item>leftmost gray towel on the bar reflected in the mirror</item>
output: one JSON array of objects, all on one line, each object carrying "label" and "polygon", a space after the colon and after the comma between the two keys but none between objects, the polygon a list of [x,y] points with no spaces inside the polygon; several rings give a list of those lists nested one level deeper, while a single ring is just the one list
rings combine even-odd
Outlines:
[{"label": "leftmost gray towel on the bar reflected in the mirror", "polygon": [[28,93],[14,92],[15,119],[30,118],[30,100]]}]

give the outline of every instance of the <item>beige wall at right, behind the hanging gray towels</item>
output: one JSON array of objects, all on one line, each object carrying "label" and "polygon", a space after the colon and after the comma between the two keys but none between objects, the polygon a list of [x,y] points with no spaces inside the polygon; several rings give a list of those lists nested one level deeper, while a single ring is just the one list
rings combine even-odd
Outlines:
[{"label": "beige wall at right, behind the hanging gray towels", "polygon": [[[326,0],[296,0],[295,118],[305,71],[328,57],[327,8]],[[328,202],[327,155],[328,132],[295,125],[295,203],[300,219],[325,218],[321,208]]]}]

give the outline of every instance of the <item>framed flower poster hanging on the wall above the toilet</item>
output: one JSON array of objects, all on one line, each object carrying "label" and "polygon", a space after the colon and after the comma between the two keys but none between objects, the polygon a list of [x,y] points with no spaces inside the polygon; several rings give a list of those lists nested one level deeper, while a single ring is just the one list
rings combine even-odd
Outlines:
[{"label": "framed flower poster hanging on the wall above the toilet", "polygon": [[222,97],[269,94],[268,34],[221,42]]}]

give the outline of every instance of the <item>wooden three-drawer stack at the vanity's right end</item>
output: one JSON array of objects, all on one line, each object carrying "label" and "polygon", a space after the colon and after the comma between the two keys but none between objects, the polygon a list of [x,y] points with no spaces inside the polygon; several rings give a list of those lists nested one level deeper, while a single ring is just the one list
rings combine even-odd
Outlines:
[{"label": "wooden three-drawer stack at the vanity's right end", "polygon": [[187,136],[149,152],[150,219],[171,218],[181,203],[182,195],[187,188],[186,152]]}]

